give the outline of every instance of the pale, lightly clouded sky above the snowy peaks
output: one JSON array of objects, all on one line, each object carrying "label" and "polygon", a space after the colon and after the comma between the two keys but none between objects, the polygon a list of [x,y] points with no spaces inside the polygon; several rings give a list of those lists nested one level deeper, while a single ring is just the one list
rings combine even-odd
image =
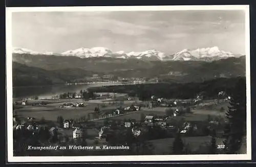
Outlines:
[{"label": "pale, lightly clouded sky above the snowy peaks", "polygon": [[15,12],[12,46],[56,53],[81,47],[174,53],[218,46],[224,51],[244,54],[245,12]]}]

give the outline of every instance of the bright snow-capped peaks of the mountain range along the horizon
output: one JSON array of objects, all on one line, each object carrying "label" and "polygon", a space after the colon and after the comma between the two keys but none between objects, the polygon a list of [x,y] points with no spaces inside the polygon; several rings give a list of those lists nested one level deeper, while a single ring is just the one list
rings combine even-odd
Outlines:
[{"label": "bright snow-capped peaks of the mountain range along the horizon", "polygon": [[24,55],[56,55],[62,57],[77,57],[80,59],[86,58],[115,58],[115,59],[137,59],[144,61],[216,61],[226,58],[238,58],[241,54],[233,54],[228,51],[220,50],[217,46],[198,48],[195,50],[183,49],[176,53],[164,53],[156,49],[146,50],[141,52],[128,52],[117,51],[112,52],[105,47],[93,48],[78,48],[68,50],[62,53],[45,52],[40,53],[26,48],[13,48],[14,54]]}]

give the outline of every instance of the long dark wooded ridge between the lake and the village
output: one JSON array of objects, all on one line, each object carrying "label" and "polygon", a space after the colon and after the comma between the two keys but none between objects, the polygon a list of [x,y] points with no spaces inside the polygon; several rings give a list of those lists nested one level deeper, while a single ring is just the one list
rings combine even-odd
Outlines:
[{"label": "long dark wooded ridge between the lake and the village", "polygon": [[179,83],[158,83],[158,84],[138,84],[121,86],[104,86],[90,88],[93,92],[116,92],[127,93],[130,96],[137,96],[140,100],[150,100],[151,96],[162,98],[189,99],[194,98],[198,93],[204,95],[206,99],[218,98],[220,91],[227,94],[233,92],[233,88],[239,79],[236,78],[217,78],[204,82],[190,82],[186,84]]}]

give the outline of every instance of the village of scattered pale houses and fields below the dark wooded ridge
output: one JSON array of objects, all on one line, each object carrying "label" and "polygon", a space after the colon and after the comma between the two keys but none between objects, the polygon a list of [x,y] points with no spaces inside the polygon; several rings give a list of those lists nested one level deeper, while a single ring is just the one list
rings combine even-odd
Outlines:
[{"label": "village of scattered pale houses and fields below the dark wooded ridge", "polygon": [[[207,136],[217,129],[221,138],[225,110],[230,96],[218,93],[219,99],[164,99],[152,96],[150,101],[117,93],[84,92],[65,98],[22,99],[13,104],[14,139],[37,136],[37,143],[84,144],[103,146],[118,143],[115,133],[130,132],[146,141],[183,136]],[[26,134],[26,135],[25,135]],[[21,139],[20,136],[24,138]]]}]

